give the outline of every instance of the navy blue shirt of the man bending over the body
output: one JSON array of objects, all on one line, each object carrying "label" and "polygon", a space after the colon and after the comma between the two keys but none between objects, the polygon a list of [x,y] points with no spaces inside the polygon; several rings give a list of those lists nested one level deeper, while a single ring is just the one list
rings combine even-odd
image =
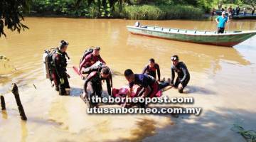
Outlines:
[{"label": "navy blue shirt of the man bending over the body", "polygon": [[151,86],[156,80],[154,80],[153,77],[149,75],[144,75],[144,74],[134,74],[134,82],[129,83],[129,87],[132,88],[134,84],[137,84],[141,87],[148,87]]}]

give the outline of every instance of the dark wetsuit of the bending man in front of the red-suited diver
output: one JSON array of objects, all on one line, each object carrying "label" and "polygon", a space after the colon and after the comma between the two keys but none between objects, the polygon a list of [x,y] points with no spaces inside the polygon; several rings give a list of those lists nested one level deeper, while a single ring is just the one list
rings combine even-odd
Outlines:
[{"label": "dark wetsuit of the bending man in front of the red-suited diver", "polygon": [[98,97],[101,97],[102,94],[102,80],[106,80],[107,82],[107,92],[108,94],[111,96],[111,78],[102,78],[100,75],[100,72],[94,71],[91,72],[85,80],[85,84],[84,84],[84,90],[85,92],[87,92],[87,84],[90,82],[89,86],[92,94],[91,97],[94,95],[97,95]]}]

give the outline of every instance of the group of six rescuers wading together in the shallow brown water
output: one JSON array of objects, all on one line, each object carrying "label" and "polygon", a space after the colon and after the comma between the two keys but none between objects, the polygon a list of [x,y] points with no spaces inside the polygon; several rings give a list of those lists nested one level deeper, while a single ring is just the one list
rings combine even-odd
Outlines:
[{"label": "group of six rescuers wading together in the shallow brown water", "polygon": [[[60,95],[65,95],[65,89],[70,88],[68,82],[68,75],[66,67],[68,54],[66,53],[68,48],[68,42],[65,40],[60,41],[60,45],[54,51],[52,55],[52,67],[51,77],[55,84],[56,91],[59,91]],[[124,77],[129,83],[129,92],[132,92],[134,85],[138,85],[143,88],[143,91],[138,94],[138,97],[155,97],[155,94],[159,89],[163,89],[167,86],[173,86],[178,89],[178,92],[182,93],[184,87],[190,80],[188,69],[184,62],[181,62],[178,55],[171,57],[171,79],[168,81],[161,80],[161,70],[159,64],[155,62],[153,58],[149,59],[148,64],[144,67],[141,74],[135,74],[131,69],[124,71]],[[87,53],[82,58],[79,65],[78,72],[84,77],[84,93],[82,97],[88,97],[88,89],[92,94],[102,95],[102,81],[107,84],[107,92],[112,96],[112,73],[107,63],[100,57],[100,47],[94,47],[90,53]],[[175,72],[177,74],[176,81]],[[157,77],[156,77],[157,75]]]}]

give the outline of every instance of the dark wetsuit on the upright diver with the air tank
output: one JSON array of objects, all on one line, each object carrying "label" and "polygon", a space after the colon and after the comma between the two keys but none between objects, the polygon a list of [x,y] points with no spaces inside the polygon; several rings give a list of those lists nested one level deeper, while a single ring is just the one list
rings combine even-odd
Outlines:
[{"label": "dark wetsuit on the upright diver with the air tank", "polygon": [[[60,95],[66,94],[65,88],[70,88],[68,77],[67,77],[67,60],[65,58],[66,53],[61,53],[57,48],[53,54],[53,63],[52,63],[52,77],[55,83],[55,87],[60,87]],[[60,78],[63,78],[64,84],[60,84]]]}]

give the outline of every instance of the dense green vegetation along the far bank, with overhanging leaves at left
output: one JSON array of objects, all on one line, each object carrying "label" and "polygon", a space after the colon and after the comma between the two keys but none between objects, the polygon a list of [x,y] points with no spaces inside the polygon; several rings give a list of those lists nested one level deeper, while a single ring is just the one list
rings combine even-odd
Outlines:
[{"label": "dense green vegetation along the far bank, with overhanging leaves at left", "polygon": [[[86,18],[197,19],[221,4],[252,6],[255,0],[1,0],[0,37],[4,27],[24,30],[26,16],[71,16]],[[235,5],[234,5],[235,4]],[[247,4],[247,5],[245,5]]]}]

